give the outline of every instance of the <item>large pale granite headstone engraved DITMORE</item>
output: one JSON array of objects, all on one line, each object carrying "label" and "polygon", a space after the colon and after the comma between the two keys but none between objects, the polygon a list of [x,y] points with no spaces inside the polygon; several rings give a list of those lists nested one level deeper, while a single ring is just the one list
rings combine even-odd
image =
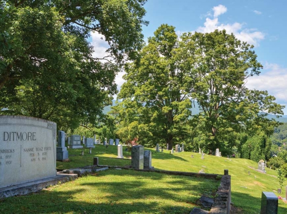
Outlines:
[{"label": "large pale granite headstone engraved DITMORE", "polygon": [[0,188],[55,177],[56,123],[0,116]]}]

